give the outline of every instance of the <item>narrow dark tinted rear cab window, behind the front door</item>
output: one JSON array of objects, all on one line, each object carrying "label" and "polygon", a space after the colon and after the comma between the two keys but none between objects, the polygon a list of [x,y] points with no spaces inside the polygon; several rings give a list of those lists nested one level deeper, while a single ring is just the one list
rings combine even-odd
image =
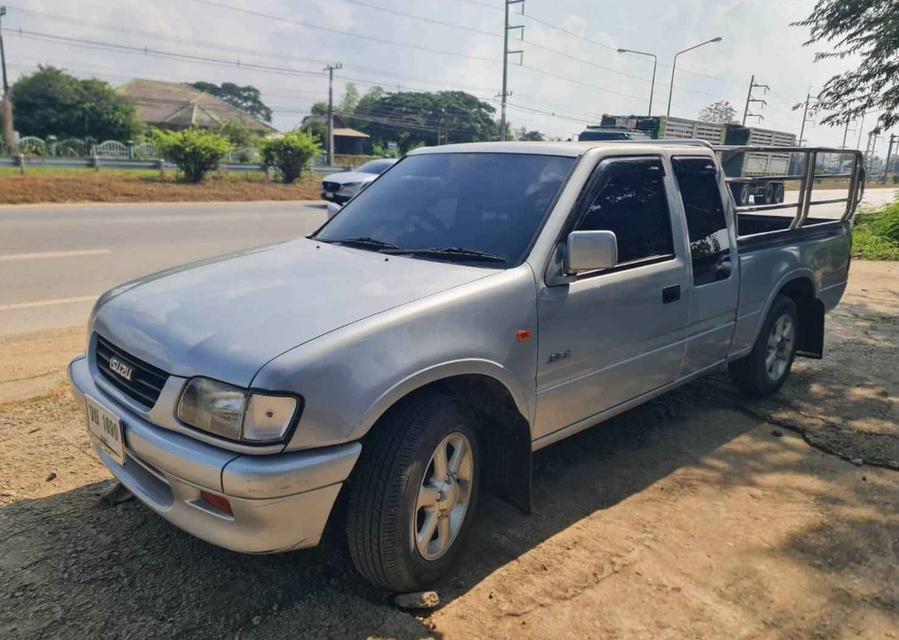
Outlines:
[{"label": "narrow dark tinted rear cab window, behind the front door", "polygon": [[693,284],[715,282],[721,259],[730,254],[715,164],[708,158],[675,158],[672,164],[687,217]]}]

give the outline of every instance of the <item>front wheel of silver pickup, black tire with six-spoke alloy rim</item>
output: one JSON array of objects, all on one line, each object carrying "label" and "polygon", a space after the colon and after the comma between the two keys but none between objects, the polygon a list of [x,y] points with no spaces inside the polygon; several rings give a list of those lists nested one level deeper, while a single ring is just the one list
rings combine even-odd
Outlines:
[{"label": "front wheel of silver pickup, black tire with six-spoke alloy rim", "polygon": [[[448,472],[438,478],[441,447]],[[473,419],[458,400],[423,394],[386,416],[363,443],[348,485],[346,537],[359,573],[394,592],[443,575],[474,520],[479,465]]]}]

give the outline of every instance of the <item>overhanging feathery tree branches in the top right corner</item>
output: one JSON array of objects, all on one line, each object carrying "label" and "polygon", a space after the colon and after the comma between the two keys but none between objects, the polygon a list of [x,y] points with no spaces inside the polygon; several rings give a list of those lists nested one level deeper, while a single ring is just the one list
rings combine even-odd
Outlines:
[{"label": "overhanging feathery tree branches in the top right corner", "polygon": [[822,44],[815,60],[858,56],[861,63],[833,76],[818,94],[822,124],[844,124],[882,110],[878,126],[899,123],[899,2],[818,0],[812,13],[793,26],[811,31],[806,46]]}]

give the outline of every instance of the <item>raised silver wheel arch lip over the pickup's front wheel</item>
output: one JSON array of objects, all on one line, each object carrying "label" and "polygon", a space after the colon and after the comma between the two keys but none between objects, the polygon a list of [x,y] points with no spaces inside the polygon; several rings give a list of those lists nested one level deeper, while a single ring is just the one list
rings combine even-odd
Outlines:
[{"label": "raised silver wheel arch lip over the pickup's front wheel", "polygon": [[361,438],[368,433],[369,429],[374,426],[390,407],[416,389],[439,380],[462,375],[483,375],[493,378],[502,384],[509,390],[519,413],[527,419],[528,424],[533,423],[532,395],[524,393],[524,390],[515,383],[508,369],[492,360],[466,358],[431,365],[394,384],[366,410],[365,415],[354,431],[354,437]]}]

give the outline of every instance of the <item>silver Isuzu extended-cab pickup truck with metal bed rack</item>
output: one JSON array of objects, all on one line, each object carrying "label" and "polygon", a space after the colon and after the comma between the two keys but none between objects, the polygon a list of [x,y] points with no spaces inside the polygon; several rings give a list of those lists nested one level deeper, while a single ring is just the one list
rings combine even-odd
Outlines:
[{"label": "silver Isuzu extended-cab pickup truck with metal bed rack", "polygon": [[787,150],[798,203],[738,210],[698,142],[419,149],[309,237],[104,294],[72,386],[100,459],[175,526],[272,553],[330,520],[365,578],[412,590],[481,491],[530,509],[535,450],[723,367],[763,396],[821,357],[863,185],[849,152],[837,219],[810,218],[825,151]]}]

